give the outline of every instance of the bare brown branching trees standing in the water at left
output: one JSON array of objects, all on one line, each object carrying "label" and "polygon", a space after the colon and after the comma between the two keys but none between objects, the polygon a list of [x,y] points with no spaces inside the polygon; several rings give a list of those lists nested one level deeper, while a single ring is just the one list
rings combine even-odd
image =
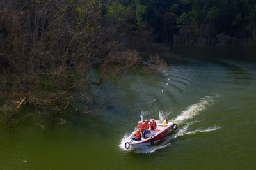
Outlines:
[{"label": "bare brown branching trees standing in the water at left", "polygon": [[[9,127],[22,103],[60,123],[65,122],[63,111],[68,108],[84,114],[112,106],[109,96],[93,101],[94,89],[109,77],[140,66],[139,53],[125,49],[116,38],[118,28],[131,17],[125,6],[108,6],[102,17],[101,1],[1,1],[0,5],[4,6],[0,118]],[[90,78],[92,69],[100,73]]]}]

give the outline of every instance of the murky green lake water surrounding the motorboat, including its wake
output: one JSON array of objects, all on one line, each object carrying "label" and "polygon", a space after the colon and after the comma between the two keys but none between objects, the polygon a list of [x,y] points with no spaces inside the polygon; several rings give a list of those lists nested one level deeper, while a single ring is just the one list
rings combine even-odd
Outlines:
[{"label": "murky green lake water surrounding the motorboat, including its wake", "polygon": [[[115,101],[108,110],[44,129],[1,125],[0,169],[255,169],[256,51],[178,46],[173,53],[180,56],[163,74],[134,70],[98,89]],[[159,145],[125,150],[141,116],[178,129]]]}]

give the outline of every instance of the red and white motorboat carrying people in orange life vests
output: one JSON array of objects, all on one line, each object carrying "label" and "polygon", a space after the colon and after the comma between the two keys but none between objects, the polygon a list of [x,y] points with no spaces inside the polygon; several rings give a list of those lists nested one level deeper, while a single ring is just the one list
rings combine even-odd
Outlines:
[{"label": "red and white motorboat carrying people in orange life vests", "polygon": [[133,140],[137,127],[134,128],[134,132],[132,132],[125,142],[125,148],[128,150],[130,146],[132,148],[141,148],[143,146],[152,146],[157,142],[161,141],[165,136],[170,134],[173,130],[176,130],[178,125],[175,122],[168,122],[168,120],[155,120],[156,129],[149,130],[145,135],[145,138],[141,138],[140,141]]}]

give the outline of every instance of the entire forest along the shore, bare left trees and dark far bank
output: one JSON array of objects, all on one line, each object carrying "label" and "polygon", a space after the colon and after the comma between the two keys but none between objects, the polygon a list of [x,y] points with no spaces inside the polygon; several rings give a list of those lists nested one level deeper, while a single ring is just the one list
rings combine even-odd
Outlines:
[{"label": "entire forest along the shore, bare left trees and dark far bank", "polygon": [[[10,128],[24,105],[60,123],[67,109],[85,114],[113,106],[109,96],[93,101],[88,87],[101,88],[135,67],[158,73],[166,67],[163,44],[256,44],[256,0],[2,0],[0,6],[0,122]],[[92,69],[99,71],[93,80]]]}]

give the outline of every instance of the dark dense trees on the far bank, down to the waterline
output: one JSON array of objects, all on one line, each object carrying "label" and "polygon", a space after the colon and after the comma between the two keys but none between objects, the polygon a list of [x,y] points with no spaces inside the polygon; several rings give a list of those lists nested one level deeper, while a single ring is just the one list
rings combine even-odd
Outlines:
[{"label": "dark dense trees on the far bank, down to the waterline", "polygon": [[[110,4],[107,14],[111,11],[120,17],[130,11],[133,16],[129,24],[136,26],[136,31],[153,29],[154,40],[161,43],[255,45],[256,42],[255,0],[116,0]],[[119,13],[113,11],[115,8]]]}]

